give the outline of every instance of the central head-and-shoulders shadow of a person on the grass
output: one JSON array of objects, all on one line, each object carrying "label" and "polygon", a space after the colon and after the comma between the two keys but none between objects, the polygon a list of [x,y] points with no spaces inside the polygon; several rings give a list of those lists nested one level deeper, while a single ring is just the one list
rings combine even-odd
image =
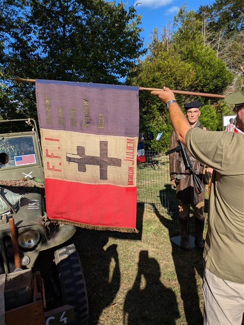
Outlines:
[{"label": "central head-and-shoulders shadow of a person on the grass", "polygon": [[124,325],[175,325],[179,318],[176,295],[160,282],[160,267],[141,251],[133,288],[124,304]]}]

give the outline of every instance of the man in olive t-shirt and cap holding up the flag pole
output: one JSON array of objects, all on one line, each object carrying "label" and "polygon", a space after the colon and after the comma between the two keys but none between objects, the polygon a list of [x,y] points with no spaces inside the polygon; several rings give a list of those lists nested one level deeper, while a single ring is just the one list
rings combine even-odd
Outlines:
[{"label": "man in olive t-shirt and cap holding up the flag pole", "polygon": [[242,324],[244,313],[244,87],[225,96],[234,104],[239,133],[191,128],[167,87],[154,90],[167,104],[179,141],[214,169],[204,247],[204,325]]}]

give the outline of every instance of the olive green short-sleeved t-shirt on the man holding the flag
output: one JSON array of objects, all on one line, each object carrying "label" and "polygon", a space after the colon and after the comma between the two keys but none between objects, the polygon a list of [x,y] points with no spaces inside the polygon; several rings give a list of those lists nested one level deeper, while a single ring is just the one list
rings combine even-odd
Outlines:
[{"label": "olive green short-sleeved t-shirt on the man holding the flag", "polygon": [[244,283],[244,134],[190,129],[186,146],[214,169],[203,257],[217,277]]}]

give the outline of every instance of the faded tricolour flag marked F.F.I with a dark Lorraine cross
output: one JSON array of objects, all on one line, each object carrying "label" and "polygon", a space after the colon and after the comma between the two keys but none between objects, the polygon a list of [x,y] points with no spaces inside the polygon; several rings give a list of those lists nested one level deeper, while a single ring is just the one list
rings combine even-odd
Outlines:
[{"label": "faded tricolour flag marked F.F.I with a dark Lorraine cross", "polygon": [[136,231],[138,90],[36,81],[50,219]]}]

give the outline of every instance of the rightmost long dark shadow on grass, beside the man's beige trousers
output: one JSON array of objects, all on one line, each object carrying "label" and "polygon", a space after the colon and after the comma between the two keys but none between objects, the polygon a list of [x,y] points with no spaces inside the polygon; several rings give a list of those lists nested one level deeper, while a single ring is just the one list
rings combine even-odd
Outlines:
[{"label": "rightmost long dark shadow on grass, beside the man's beige trousers", "polygon": [[[179,235],[177,217],[164,217],[155,208],[155,214],[164,227],[168,229],[169,238]],[[192,248],[190,251],[183,251],[177,244],[171,241],[172,257],[175,264],[177,280],[180,286],[180,296],[184,308],[187,325],[201,325],[202,313],[200,310],[200,297],[196,280],[196,271],[203,277],[203,257],[202,251]],[[163,254],[162,247],[162,254]],[[200,289],[201,290],[201,289]]]}]

